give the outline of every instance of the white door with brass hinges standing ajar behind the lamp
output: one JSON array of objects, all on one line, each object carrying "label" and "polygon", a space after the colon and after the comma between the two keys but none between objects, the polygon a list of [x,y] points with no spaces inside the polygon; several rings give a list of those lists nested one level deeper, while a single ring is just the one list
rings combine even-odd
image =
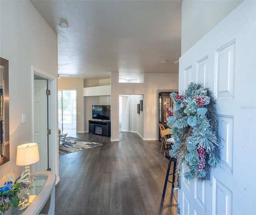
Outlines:
[{"label": "white door with brass hinges standing ajar behind the lamp", "polygon": [[38,144],[40,158],[35,164],[35,171],[48,168],[46,89],[46,80],[34,80],[34,141]]}]

